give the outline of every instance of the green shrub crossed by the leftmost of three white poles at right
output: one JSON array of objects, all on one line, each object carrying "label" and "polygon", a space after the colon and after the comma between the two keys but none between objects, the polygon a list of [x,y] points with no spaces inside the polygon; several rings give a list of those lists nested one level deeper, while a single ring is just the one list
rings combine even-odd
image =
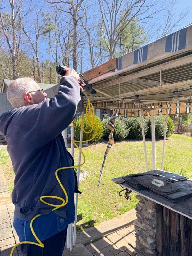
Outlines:
[{"label": "green shrub crossed by the leftmost of three white poles at right", "polygon": [[[129,131],[127,139],[140,140],[142,136],[141,119],[140,117],[126,117],[122,119]],[[147,133],[148,126],[143,122],[144,133]]]}]

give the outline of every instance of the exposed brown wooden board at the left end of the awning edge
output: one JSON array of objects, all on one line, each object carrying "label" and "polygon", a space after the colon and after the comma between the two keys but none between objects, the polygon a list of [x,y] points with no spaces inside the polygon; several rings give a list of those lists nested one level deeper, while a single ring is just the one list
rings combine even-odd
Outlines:
[{"label": "exposed brown wooden board at the left end of the awning edge", "polygon": [[114,58],[112,60],[109,60],[106,63],[101,64],[98,67],[92,68],[91,70],[88,70],[83,73],[84,79],[87,81],[90,81],[91,79],[101,76],[105,73],[108,73],[109,71],[112,71],[116,69],[116,61],[117,58]]}]

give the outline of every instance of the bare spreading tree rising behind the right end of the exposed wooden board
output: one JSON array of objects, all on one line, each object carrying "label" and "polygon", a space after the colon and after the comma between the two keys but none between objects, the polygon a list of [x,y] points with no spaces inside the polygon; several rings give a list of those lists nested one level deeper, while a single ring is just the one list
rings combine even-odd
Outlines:
[{"label": "bare spreading tree rising behind the right end of the exposed wooden board", "polygon": [[100,29],[109,59],[113,58],[122,31],[132,20],[145,20],[157,12],[152,10],[156,0],[151,0],[150,3],[147,0],[98,0],[98,3],[101,14]]}]

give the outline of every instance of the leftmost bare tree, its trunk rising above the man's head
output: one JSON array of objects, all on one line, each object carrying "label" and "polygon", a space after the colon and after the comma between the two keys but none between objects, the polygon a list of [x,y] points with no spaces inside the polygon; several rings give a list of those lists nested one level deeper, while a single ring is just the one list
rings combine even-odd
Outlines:
[{"label": "leftmost bare tree, its trunk rising above the man's head", "polygon": [[[9,51],[12,56],[12,76],[17,78],[17,60],[21,50],[21,21],[31,11],[31,3],[28,10],[24,11],[24,0],[9,0],[8,5],[4,7],[5,2],[1,1],[0,23],[3,35],[6,39]],[[8,12],[4,12],[7,11]]]}]

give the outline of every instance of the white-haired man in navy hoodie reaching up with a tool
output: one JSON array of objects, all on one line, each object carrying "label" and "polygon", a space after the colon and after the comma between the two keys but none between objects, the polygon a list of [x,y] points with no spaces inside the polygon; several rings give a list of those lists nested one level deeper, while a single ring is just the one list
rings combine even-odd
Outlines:
[{"label": "white-haired man in navy hoodie reaching up with a tool", "polygon": [[[55,177],[61,167],[74,166],[65,148],[61,132],[72,122],[80,101],[79,75],[68,69],[61,78],[54,98],[48,98],[30,78],[18,78],[8,88],[7,98],[15,109],[0,116],[0,131],[8,142],[7,150],[15,172],[12,202],[15,205],[13,226],[19,240],[37,240],[31,232],[33,221],[36,236],[44,244],[21,244],[25,256],[61,256],[67,225],[74,221],[74,192],[79,192],[72,168],[57,172],[67,196]],[[45,196],[45,204],[40,200]],[[52,205],[66,205],[52,211]]]}]

